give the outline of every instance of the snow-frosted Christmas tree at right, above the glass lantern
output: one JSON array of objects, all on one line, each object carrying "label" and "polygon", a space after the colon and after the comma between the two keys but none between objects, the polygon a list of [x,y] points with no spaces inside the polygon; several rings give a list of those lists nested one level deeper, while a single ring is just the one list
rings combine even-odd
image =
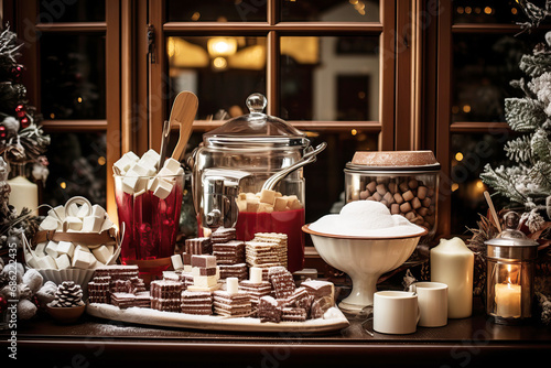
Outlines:
[{"label": "snow-frosted Christmas tree at right, above the glass lantern", "polygon": [[[538,12],[541,14],[541,12]],[[541,19],[538,17],[538,24]],[[551,218],[551,32],[532,54],[523,55],[519,68],[529,80],[512,80],[523,97],[505,100],[505,117],[520,137],[505,145],[511,165],[493,169],[486,164],[480,178],[523,207],[522,223],[531,232]]]}]

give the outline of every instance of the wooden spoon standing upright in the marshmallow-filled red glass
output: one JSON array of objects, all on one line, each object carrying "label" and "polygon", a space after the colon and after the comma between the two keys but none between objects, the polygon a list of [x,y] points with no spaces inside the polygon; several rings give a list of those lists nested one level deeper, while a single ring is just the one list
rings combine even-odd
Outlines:
[{"label": "wooden spoon standing upright in the marshmallow-filled red glass", "polygon": [[173,123],[180,125],[180,137],[174,152],[172,152],[172,159],[174,160],[181,161],[184,155],[187,140],[192,134],[193,120],[195,120],[198,105],[197,96],[191,91],[181,91],[174,99],[170,123],[171,127]]}]

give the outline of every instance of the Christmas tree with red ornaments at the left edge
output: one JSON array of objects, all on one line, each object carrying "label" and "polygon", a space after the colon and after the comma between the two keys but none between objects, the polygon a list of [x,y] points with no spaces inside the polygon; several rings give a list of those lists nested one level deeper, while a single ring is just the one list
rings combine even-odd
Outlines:
[{"label": "Christmas tree with red ornaments at the left edge", "polygon": [[11,166],[32,167],[35,180],[45,181],[48,173],[44,153],[50,137],[42,131],[42,118],[29,105],[26,88],[21,84],[21,47],[15,33],[9,29],[0,32],[0,251],[7,243],[20,246],[22,236],[29,239],[37,228],[37,217],[31,209],[18,210],[8,203]]}]

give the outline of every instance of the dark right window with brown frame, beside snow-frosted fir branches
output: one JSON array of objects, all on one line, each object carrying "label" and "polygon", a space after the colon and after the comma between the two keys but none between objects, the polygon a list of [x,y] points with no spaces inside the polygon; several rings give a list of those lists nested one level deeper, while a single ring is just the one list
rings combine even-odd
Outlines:
[{"label": "dark right window with brown frame, beside snow-frosted fir branches", "polygon": [[[443,228],[468,235],[486,215],[479,180],[484,165],[505,162],[504,144],[514,134],[505,122],[504,102],[521,97],[509,83],[522,77],[520,57],[543,41],[541,30],[521,33],[526,15],[516,1],[442,3],[437,30],[437,149],[450,191],[443,194]],[[501,208],[500,198],[494,198]]]}]

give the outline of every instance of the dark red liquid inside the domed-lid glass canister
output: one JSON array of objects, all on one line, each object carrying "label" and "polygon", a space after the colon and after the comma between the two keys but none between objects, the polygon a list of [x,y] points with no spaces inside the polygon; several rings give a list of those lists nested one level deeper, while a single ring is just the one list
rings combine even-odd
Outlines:
[{"label": "dark red liquid inside the domed-lid glass canister", "polygon": [[288,236],[288,269],[291,272],[304,268],[304,208],[273,213],[240,212],[236,236],[239,240],[251,240],[256,232],[282,232]]}]

